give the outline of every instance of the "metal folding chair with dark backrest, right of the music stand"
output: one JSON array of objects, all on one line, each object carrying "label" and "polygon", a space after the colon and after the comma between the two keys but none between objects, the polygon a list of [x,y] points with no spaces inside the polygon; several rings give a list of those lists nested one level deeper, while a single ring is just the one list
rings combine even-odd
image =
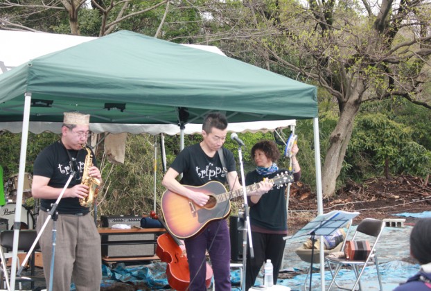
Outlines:
[{"label": "metal folding chair with dark backrest, right of the music stand", "polygon": [[[325,257],[325,261],[328,262],[329,267],[331,269],[331,274],[333,274],[331,265],[332,264],[335,265],[335,273],[333,274],[333,279],[331,281],[331,284],[329,285],[328,290],[331,290],[333,284],[335,283],[335,279],[337,277],[337,274],[338,274],[338,272],[340,272],[340,269],[343,265],[350,265],[351,267],[353,267],[353,271],[355,272],[355,276],[356,276],[356,281],[355,281],[355,285],[353,285],[353,288],[351,288],[351,289],[350,288],[341,288],[341,289],[355,290],[355,288],[359,285],[359,290],[362,290],[360,278],[361,278],[362,274],[364,273],[365,267],[367,267],[368,265],[376,265],[378,283],[380,285],[380,290],[382,290],[382,279],[380,277],[380,272],[378,270],[378,259],[377,259],[377,254],[376,254],[376,246],[377,246],[378,240],[380,239],[380,236],[381,236],[384,228],[385,228],[385,222],[384,221],[376,220],[373,218],[365,218],[364,220],[362,220],[360,222],[360,224],[358,224],[358,227],[357,227],[355,233],[353,234],[353,238],[351,240],[353,240],[353,241],[355,239],[359,240],[359,239],[357,239],[358,233],[362,233],[362,234],[366,235],[365,239],[369,240],[369,243],[371,246],[371,252],[370,252],[369,256],[367,256],[367,258],[364,260],[351,261],[351,260],[347,260],[346,258],[333,258],[331,256]],[[361,240],[363,240],[363,238],[361,238]],[[342,249],[343,252],[344,252],[344,248],[345,248],[345,245]],[[360,269],[360,267],[362,267],[362,268]]]}]

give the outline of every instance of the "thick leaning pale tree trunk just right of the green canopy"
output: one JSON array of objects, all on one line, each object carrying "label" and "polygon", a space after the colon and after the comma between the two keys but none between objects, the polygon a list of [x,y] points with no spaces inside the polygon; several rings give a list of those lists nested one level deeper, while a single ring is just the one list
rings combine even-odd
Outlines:
[{"label": "thick leaning pale tree trunk just right of the green canopy", "polygon": [[[361,90],[362,91],[362,90]],[[360,107],[360,92],[352,91],[353,96],[346,97],[346,103],[340,107],[340,120],[329,137],[329,148],[326,152],[322,170],[322,191],[324,197],[335,194],[335,184],[340,175],[346,148],[349,145],[355,116]]]}]

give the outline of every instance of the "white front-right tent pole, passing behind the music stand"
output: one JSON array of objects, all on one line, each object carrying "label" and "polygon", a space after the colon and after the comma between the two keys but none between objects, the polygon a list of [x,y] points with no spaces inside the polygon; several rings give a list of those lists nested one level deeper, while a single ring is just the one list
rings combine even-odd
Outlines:
[{"label": "white front-right tent pole, passing behind the music stand", "polygon": [[[315,143],[315,163],[316,163],[316,193],[317,193],[317,214],[323,214],[322,199],[322,168],[320,161],[320,139],[319,139],[319,118],[313,118],[313,132]],[[325,290],[325,257],[324,257],[324,240],[320,236],[320,280],[321,290]]]}]

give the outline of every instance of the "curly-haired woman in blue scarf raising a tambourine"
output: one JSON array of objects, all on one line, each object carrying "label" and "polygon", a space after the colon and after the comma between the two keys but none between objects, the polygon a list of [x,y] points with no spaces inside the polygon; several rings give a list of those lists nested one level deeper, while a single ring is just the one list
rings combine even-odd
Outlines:
[{"label": "curly-haired woman in blue scarf raising a tambourine", "polygon": [[[301,177],[301,168],[297,161],[299,149],[295,144],[292,147],[292,170],[294,181]],[[256,143],[251,151],[252,159],[256,169],[247,173],[245,184],[251,185],[263,179],[272,179],[288,170],[279,169],[276,161],[280,158],[279,149],[274,141],[260,141]],[[256,277],[263,263],[271,260],[274,267],[274,285],[281,263],[285,240],[283,237],[288,233],[288,214],[286,209],[285,190],[286,186],[275,185],[270,191],[263,195],[252,195],[247,197],[250,206],[250,227],[252,230],[252,241],[254,258],[247,253],[247,266],[245,278],[245,290],[254,285]]]}]

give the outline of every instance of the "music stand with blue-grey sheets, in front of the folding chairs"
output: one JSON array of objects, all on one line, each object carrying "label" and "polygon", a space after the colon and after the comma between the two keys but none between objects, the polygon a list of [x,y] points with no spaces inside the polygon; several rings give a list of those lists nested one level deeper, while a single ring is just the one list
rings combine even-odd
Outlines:
[{"label": "music stand with blue-grey sheets, in front of the folding chairs", "polygon": [[[292,238],[299,236],[311,236],[311,263],[310,263],[310,288],[313,282],[313,256],[315,249],[315,236],[331,236],[337,229],[343,227],[347,222],[359,215],[359,212],[348,212],[342,210],[331,211],[326,214],[317,215],[313,220],[308,222],[305,227],[299,229]],[[322,250],[321,250],[322,251]],[[320,262],[322,263],[322,262]]]}]

